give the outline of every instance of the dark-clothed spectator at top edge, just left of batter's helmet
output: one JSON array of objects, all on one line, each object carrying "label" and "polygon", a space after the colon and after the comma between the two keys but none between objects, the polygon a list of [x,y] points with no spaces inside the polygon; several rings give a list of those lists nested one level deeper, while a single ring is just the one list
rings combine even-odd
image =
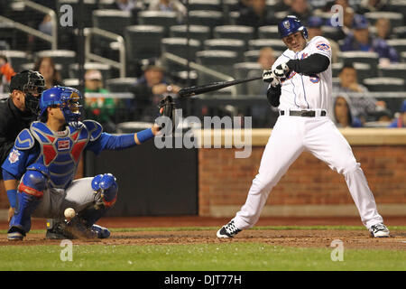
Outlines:
[{"label": "dark-clothed spectator at top edge, just left of batter's helmet", "polygon": [[254,28],[266,25],[276,25],[278,22],[271,11],[266,9],[266,0],[252,0],[252,5],[240,10],[238,25],[246,25]]}]

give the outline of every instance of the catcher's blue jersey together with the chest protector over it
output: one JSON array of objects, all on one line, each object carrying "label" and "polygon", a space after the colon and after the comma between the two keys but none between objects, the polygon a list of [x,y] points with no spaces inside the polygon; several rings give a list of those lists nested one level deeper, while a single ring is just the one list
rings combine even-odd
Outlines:
[{"label": "catcher's blue jersey together with the chest protector over it", "polygon": [[14,147],[5,160],[3,170],[20,179],[32,163],[48,168],[49,186],[66,189],[78,170],[84,150],[99,154],[111,142],[114,135],[103,133],[97,122],[86,120],[80,126],[67,126],[64,131],[54,132],[42,122],[33,122],[15,140]]}]

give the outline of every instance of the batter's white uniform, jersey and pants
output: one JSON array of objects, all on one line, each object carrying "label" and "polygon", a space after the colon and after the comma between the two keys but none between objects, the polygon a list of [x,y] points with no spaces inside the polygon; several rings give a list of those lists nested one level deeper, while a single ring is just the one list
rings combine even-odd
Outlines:
[{"label": "batter's white uniform, jersey and pants", "polygon": [[[300,52],[284,51],[273,64],[272,70],[283,62],[304,59],[313,53],[327,56],[331,63],[330,44],[327,39],[318,36],[312,38]],[[331,101],[331,80],[330,64],[327,70],[314,76],[292,71],[281,83],[279,109],[283,111],[283,115],[278,117],[272,129],[259,172],[248,191],[245,205],[235,215],[236,228],[254,226],[270,191],[303,151],[310,152],[328,163],[331,169],[345,176],[348,189],[366,228],[383,222],[376,209],[374,195],[350,145],[331,119],[323,116],[324,112],[328,114]],[[295,110],[313,110],[315,117],[290,116],[290,111]]]}]

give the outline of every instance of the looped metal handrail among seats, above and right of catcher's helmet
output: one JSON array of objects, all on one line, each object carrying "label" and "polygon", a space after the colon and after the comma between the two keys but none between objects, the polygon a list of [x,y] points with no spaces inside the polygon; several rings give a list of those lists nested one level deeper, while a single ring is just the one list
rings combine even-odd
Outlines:
[{"label": "looped metal handrail among seats, above and right of catcher's helmet", "polygon": [[[85,28],[85,58],[91,61],[97,61],[97,62],[102,62],[109,64],[116,69],[120,70],[120,78],[125,78],[125,40],[123,36],[108,32],[106,30],[97,28],[97,27],[89,27]],[[106,57],[102,57],[100,55],[97,55],[95,53],[92,53],[90,50],[91,46],[91,36],[92,35],[97,35],[101,37],[105,37],[107,39],[113,40],[115,42],[118,42],[118,50],[119,50],[119,61],[112,61]]]}]

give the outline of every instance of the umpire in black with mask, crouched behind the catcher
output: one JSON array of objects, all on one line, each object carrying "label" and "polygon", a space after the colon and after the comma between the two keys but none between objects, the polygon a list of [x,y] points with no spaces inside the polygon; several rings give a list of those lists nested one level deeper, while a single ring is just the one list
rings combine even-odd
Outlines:
[{"label": "umpire in black with mask, crouched behind the catcher", "polygon": [[[11,79],[10,96],[0,100],[1,163],[5,162],[17,135],[37,118],[40,96],[44,89],[45,79],[37,71],[24,70]],[[0,181],[2,178],[0,173]],[[3,189],[3,183],[0,185]]]}]

